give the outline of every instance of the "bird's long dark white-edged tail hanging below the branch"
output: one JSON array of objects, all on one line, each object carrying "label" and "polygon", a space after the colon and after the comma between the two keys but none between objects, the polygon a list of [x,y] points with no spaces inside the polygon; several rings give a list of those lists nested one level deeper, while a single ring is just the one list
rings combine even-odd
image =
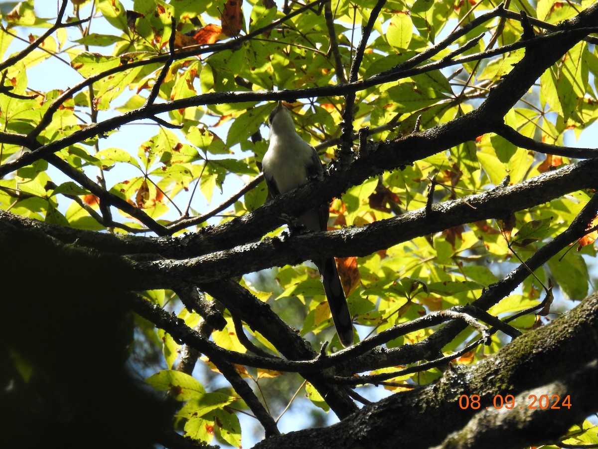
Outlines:
[{"label": "bird's long dark white-edged tail hanging below the branch", "polygon": [[344,347],[353,344],[353,324],[347,300],[344,298],[343,285],[340,283],[334,257],[316,262],[320,271],[320,279],[328,298],[332,320],[338,333],[338,339]]}]

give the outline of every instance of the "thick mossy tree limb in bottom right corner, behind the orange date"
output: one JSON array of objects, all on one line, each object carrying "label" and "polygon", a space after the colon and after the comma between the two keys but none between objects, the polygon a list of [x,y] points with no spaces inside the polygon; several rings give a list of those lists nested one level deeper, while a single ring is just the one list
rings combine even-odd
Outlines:
[{"label": "thick mossy tree limb in bottom right corner, behind the orange date", "polygon": [[[466,433],[474,443],[448,447],[505,449],[553,442],[572,424],[598,411],[597,328],[598,294],[594,294],[574,310],[527,332],[481,362],[453,366],[434,384],[366,405],[325,429],[287,433],[260,442],[255,448],[303,449],[305,441],[313,447],[330,449],[356,447],[359,441],[367,441],[368,447],[395,447],[399,442],[402,447],[429,448],[441,444],[446,435],[459,432],[468,423],[473,426],[472,420],[487,423],[479,437],[484,444],[475,445],[476,436]],[[527,392],[548,398],[560,395],[561,402],[570,395],[572,407],[529,409],[532,399],[524,396]],[[460,408],[461,395],[479,395],[480,409]],[[524,402],[516,402],[514,409],[495,409],[493,399],[498,395],[513,395]],[[556,398],[551,399],[551,405],[555,401]],[[521,419],[514,425],[521,430],[509,432],[516,435],[507,439],[503,425],[518,417]],[[532,431],[538,428],[540,432]]]}]

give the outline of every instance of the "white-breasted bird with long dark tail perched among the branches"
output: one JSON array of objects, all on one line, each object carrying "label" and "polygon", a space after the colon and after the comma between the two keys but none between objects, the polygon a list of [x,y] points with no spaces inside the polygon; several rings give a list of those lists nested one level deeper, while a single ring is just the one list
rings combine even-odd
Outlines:
[{"label": "white-breasted bird with long dark tail perched among the branches", "polygon": [[[291,113],[282,102],[270,113],[268,122],[270,146],[262,168],[270,196],[274,197],[302,186],[310,178],[321,175],[324,169],[316,150],[295,131]],[[328,204],[323,204],[304,213],[297,222],[309,230],[327,230],[328,216]],[[348,347],[353,344],[353,324],[334,257],[313,260],[313,263],[320,272],[338,338]]]}]

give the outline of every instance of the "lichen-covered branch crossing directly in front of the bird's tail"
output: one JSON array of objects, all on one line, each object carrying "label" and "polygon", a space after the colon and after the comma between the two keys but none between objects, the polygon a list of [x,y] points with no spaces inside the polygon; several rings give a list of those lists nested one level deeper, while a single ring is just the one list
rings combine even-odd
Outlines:
[{"label": "lichen-covered branch crossing directly in front of the bird's tail", "polygon": [[[582,167],[585,169],[581,169]],[[432,206],[432,214],[421,208],[369,225],[332,232],[307,233],[286,238],[284,241],[278,238],[264,239],[261,242],[215,251],[191,259],[170,259],[166,266],[164,260],[139,262],[135,269],[140,272],[140,276],[148,277],[144,282],[150,281],[151,278],[154,285],[152,288],[172,288],[188,279],[203,282],[242,275],[273,265],[294,265],[322,254],[337,257],[365,256],[417,236],[440,232],[452,226],[507,216],[569,192],[596,187],[594,174],[597,167],[598,162],[594,160],[585,161],[577,166],[569,165],[515,186],[499,187],[479,195],[435,204]],[[576,172],[576,175],[572,172]],[[288,194],[288,198],[292,198],[292,193]],[[188,251],[193,242],[185,239],[185,245]],[[172,250],[172,247],[170,249]],[[181,248],[175,253],[178,257],[183,257],[185,252],[185,249]]]}]

